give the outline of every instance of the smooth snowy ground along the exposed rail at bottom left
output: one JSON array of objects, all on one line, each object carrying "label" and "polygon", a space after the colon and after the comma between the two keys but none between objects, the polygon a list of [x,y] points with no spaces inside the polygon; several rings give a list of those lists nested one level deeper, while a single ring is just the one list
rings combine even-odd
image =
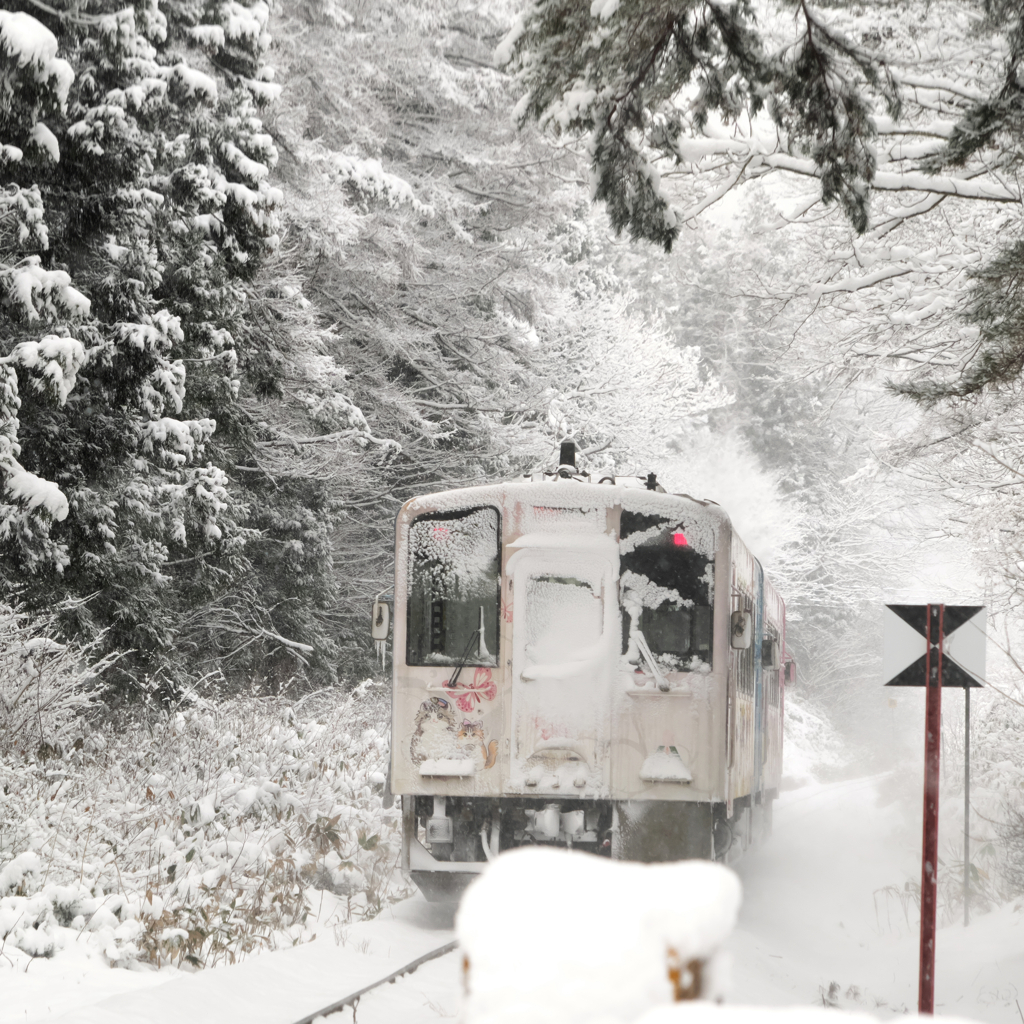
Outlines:
[{"label": "smooth snowy ground along the exposed rail at bottom left", "polygon": [[[76,944],[70,930],[65,949],[49,959],[7,950],[0,957],[0,1024],[292,1024],[455,938],[452,909],[420,896],[345,926],[336,924],[342,901],[325,895],[317,909],[314,941],[195,974],[112,969],[98,949]],[[459,971],[455,953],[425,964],[360,1000],[359,1024],[453,1017]],[[350,1011],[331,1021],[346,1018]]]}]

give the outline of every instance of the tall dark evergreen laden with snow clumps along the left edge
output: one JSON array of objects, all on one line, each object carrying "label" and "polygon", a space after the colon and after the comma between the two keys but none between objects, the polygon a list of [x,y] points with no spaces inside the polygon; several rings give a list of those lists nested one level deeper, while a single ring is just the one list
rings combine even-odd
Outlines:
[{"label": "tall dark evergreen laden with snow clumps along the left edge", "polygon": [[25,6],[0,12],[4,574],[134,651],[137,679],[172,663],[182,602],[243,567],[247,509],[209,442],[278,242],[268,9]]}]

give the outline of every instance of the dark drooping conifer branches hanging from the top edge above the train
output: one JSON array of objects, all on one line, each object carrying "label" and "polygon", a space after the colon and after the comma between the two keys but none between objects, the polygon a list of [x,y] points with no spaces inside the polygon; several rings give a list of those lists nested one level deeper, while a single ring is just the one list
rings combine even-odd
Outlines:
[{"label": "dark drooping conifer branches hanging from the top edge above the train", "polygon": [[878,54],[809,5],[781,6],[796,32],[777,45],[750,0],[532,0],[497,56],[517,69],[520,123],[586,138],[594,198],[616,230],[671,249],[681,222],[656,165],[730,148],[763,156],[723,130],[761,112],[779,148],[810,161],[824,202],[863,230],[871,94],[895,112],[893,83]]}]

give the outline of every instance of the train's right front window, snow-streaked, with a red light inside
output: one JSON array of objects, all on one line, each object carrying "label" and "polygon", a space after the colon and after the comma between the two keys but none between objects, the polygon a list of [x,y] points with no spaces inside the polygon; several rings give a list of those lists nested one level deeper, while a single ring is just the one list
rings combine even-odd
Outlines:
[{"label": "train's right front window, snow-streaked, with a red light inside", "polygon": [[623,649],[638,628],[665,668],[711,668],[714,561],[659,516],[624,509],[620,538]]}]

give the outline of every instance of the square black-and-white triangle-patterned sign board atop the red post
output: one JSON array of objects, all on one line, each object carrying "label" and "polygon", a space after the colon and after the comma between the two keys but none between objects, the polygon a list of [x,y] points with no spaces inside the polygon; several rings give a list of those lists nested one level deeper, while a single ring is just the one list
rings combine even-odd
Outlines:
[{"label": "square black-and-white triangle-patterned sign board atop the red post", "polygon": [[[927,604],[887,604],[883,611],[883,677],[886,686],[924,686],[928,655]],[[932,605],[937,607],[937,605]],[[939,647],[932,622],[932,658]],[[946,604],[942,614],[942,685],[981,686],[985,678],[985,608]]]}]

